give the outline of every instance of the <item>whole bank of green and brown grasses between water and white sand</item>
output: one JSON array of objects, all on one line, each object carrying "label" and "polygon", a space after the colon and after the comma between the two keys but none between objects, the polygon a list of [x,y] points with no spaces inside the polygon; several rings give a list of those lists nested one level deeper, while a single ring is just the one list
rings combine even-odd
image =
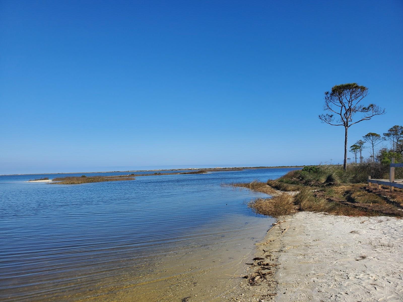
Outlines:
[{"label": "whole bank of green and brown grasses between water and white sand", "polygon": [[[397,169],[396,169],[397,170]],[[255,199],[249,207],[256,213],[278,217],[295,211],[313,211],[334,215],[403,217],[403,190],[373,192],[367,187],[368,171],[383,173],[382,163],[306,166],[277,180],[230,184],[270,194],[271,199]],[[366,177],[364,177],[368,174]],[[378,174],[380,175],[380,174]]]}]

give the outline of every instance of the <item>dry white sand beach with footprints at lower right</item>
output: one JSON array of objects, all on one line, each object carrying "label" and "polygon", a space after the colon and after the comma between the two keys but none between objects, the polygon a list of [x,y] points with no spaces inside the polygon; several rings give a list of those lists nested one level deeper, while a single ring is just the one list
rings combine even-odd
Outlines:
[{"label": "dry white sand beach with footprints at lower right", "polygon": [[266,236],[276,237],[280,263],[275,301],[403,301],[402,219],[300,212],[285,220]]}]

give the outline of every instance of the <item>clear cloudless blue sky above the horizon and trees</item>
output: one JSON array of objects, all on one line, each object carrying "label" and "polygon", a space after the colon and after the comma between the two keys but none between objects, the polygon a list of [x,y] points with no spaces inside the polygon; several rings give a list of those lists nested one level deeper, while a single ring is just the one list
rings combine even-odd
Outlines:
[{"label": "clear cloudless blue sky above the horizon and trees", "polygon": [[400,0],[0,5],[0,174],[341,162],[341,83],[387,111],[349,143],[403,124]]}]

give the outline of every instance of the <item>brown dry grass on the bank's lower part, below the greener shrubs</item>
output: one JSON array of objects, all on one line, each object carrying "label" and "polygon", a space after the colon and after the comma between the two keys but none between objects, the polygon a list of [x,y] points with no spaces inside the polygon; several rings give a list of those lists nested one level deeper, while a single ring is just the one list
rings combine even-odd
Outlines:
[{"label": "brown dry grass on the bank's lower part, below the greener shrubs", "polygon": [[253,181],[222,186],[248,188],[272,195],[272,198],[258,198],[248,203],[248,207],[255,213],[272,217],[289,215],[296,211],[345,216],[403,216],[401,211],[388,204],[384,198],[366,192],[361,184],[313,187],[268,180],[267,184]]}]

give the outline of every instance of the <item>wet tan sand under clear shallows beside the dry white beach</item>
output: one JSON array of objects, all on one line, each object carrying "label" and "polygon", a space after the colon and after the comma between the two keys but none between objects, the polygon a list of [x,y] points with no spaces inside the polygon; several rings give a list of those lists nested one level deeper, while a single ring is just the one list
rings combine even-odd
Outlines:
[{"label": "wet tan sand under clear shallows beside the dry white beach", "polygon": [[[245,219],[245,218],[244,218]],[[102,287],[88,291],[88,297],[66,295],[77,301],[155,301],[202,302],[226,301],[243,294],[242,276],[247,273],[245,262],[251,261],[256,244],[262,241],[274,219],[256,225],[243,224],[237,232],[222,230],[218,240],[200,240],[192,246],[145,261],[137,271],[127,271],[116,279],[104,279]],[[252,237],[253,236],[253,237]],[[79,299],[77,299],[79,298]]]}]

